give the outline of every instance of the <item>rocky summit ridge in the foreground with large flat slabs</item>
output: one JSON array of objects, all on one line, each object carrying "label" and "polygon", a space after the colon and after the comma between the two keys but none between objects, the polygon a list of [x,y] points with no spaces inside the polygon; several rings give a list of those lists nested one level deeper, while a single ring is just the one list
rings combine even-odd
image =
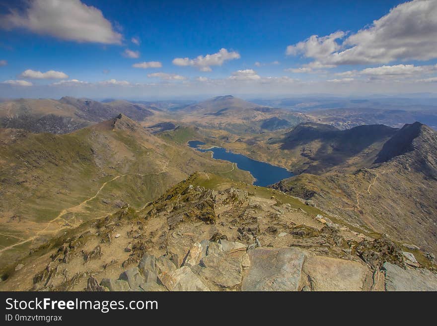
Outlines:
[{"label": "rocky summit ridge in the foreground with large flat slabs", "polygon": [[437,291],[437,275],[414,245],[198,173],[140,211],[126,206],[35,249],[0,289]]}]

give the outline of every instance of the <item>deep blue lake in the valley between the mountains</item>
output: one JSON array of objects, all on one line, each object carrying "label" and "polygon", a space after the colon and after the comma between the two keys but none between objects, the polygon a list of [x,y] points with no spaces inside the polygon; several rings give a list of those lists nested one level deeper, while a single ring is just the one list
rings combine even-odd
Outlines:
[{"label": "deep blue lake in the valley between the mountains", "polygon": [[265,187],[293,176],[293,174],[287,169],[269,163],[252,160],[247,156],[232,153],[222,147],[213,147],[210,149],[198,148],[200,145],[205,145],[204,142],[199,140],[189,141],[188,145],[201,152],[213,152],[213,157],[215,159],[236,163],[240,170],[249,171],[250,174],[256,178],[256,181],[253,183],[255,186]]}]

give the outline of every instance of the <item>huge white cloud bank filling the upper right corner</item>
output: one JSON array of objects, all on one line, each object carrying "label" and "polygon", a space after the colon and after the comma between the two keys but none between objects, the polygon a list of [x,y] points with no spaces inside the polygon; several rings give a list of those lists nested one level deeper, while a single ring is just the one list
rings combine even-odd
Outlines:
[{"label": "huge white cloud bank filling the upper right corner", "polygon": [[399,4],[370,26],[348,36],[342,31],[310,36],[287,47],[288,55],[315,59],[320,65],[386,64],[396,60],[437,58],[437,1]]}]

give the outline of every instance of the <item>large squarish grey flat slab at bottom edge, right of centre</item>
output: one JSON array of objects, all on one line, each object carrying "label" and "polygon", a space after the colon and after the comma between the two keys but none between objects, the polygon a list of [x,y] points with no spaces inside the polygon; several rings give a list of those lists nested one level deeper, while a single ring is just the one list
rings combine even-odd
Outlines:
[{"label": "large squarish grey flat slab at bottom edge, right of centre", "polygon": [[297,291],[305,251],[297,248],[256,248],[248,252],[250,268],[242,291]]}]

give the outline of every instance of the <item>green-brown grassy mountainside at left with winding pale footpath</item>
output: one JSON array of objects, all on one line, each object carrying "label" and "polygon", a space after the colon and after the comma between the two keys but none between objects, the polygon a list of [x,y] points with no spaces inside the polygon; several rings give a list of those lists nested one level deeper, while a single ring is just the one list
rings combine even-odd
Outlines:
[{"label": "green-brown grassy mountainside at left with winding pale footpath", "polygon": [[[12,141],[10,134],[1,134],[0,251],[23,242],[0,252],[1,265],[62,229],[119,209],[122,202],[140,209],[195,171],[232,168],[124,119],[127,124],[114,129],[102,123],[64,135],[27,133]],[[252,180],[238,169],[224,175]]]}]

